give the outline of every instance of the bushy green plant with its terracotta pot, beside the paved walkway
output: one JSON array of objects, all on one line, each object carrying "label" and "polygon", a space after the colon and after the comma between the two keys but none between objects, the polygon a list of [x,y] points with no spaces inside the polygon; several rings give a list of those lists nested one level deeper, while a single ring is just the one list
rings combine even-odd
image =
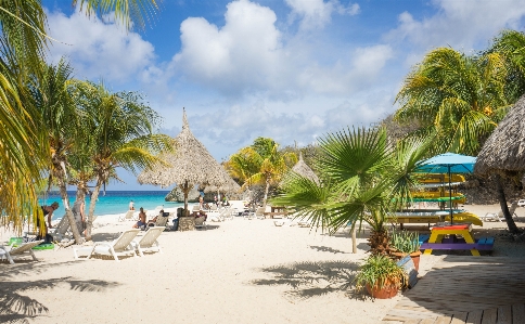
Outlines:
[{"label": "bushy green plant with its terracotta pot, beside the paved walkway", "polygon": [[393,298],[406,282],[406,274],[393,259],[385,255],[372,255],[359,267],[356,288],[367,288],[380,299]]}]

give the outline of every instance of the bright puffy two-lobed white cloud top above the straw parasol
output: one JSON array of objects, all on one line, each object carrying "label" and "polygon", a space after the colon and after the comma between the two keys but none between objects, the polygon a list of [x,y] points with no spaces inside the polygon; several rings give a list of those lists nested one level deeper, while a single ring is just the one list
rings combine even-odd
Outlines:
[{"label": "bright puffy two-lobed white cloud top above the straw parasol", "polygon": [[272,85],[283,54],[273,11],[240,0],[228,4],[225,18],[220,29],[204,18],[182,22],[176,65],[192,80],[225,93]]}]

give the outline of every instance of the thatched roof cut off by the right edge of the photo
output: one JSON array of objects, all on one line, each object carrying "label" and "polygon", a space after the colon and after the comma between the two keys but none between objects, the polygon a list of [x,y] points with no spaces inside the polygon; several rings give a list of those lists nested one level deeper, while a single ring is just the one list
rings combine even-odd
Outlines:
[{"label": "thatched roof cut off by the right edge of the photo", "polygon": [[525,169],[525,95],[509,111],[477,155],[474,172]]}]

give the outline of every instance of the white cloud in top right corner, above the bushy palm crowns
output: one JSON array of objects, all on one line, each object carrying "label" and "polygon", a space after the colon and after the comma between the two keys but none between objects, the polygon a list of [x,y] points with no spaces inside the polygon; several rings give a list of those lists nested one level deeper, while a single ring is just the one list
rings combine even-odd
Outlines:
[{"label": "white cloud in top right corner, above the bushy palm crowns", "polygon": [[421,20],[409,12],[399,15],[399,26],[388,41],[409,40],[427,51],[450,46],[463,52],[486,47],[503,28],[518,28],[525,14],[525,0],[434,0],[436,14]]}]

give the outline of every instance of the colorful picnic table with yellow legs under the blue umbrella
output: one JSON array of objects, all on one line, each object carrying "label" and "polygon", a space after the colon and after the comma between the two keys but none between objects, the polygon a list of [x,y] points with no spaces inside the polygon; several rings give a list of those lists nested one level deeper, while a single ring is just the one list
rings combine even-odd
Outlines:
[{"label": "colorful picnic table with yellow legs under the blue umbrella", "polygon": [[479,250],[491,250],[494,246],[494,237],[481,237],[476,241],[472,235],[471,224],[437,225],[432,228],[427,243],[424,243],[425,239],[426,237],[420,238],[421,249],[424,249],[425,255],[431,255],[433,249],[469,249],[473,256],[479,256]]}]

